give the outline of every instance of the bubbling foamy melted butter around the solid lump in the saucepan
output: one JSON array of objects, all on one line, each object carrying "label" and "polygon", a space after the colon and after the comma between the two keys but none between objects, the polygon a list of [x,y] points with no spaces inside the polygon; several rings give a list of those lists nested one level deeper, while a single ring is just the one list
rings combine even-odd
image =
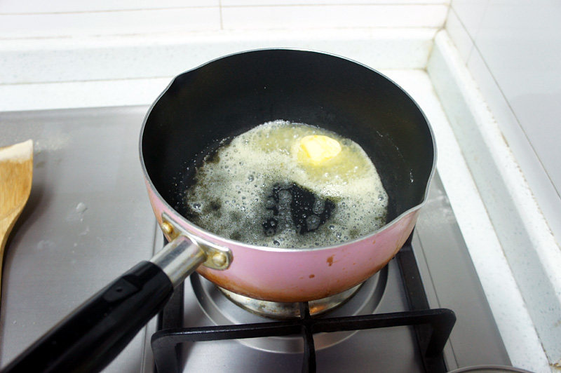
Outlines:
[{"label": "bubbling foamy melted butter around the solid lump in the saucepan", "polygon": [[[314,164],[299,142],[325,135],[342,147]],[[187,218],[225,238],[297,248],[337,245],[386,223],[388,195],[356,142],[303,123],[272,121],[205,158],[184,199]]]}]

